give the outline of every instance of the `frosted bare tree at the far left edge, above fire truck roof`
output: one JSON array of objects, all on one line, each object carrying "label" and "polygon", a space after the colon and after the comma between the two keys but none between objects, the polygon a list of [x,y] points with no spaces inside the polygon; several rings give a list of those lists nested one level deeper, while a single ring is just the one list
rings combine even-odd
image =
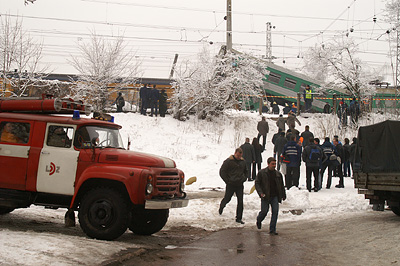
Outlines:
[{"label": "frosted bare tree at the far left edge, above fire truck roof", "polygon": [[22,25],[22,19],[18,17],[14,22],[7,15],[1,18],[2,94],[9,84],[13,96],[25,96],[29,88],[40,87],[43,78],[48,75],[48,66],[40,63],[43,44],[36,42]]}]

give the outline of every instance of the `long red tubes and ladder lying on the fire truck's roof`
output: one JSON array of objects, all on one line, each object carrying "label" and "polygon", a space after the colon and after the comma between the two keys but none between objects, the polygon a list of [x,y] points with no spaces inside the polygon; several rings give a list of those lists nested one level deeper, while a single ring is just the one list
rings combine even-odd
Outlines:
[{"label": "long red tubes and ladder lying on the fire truck's roof", "polygon": [[90,115],[92,106],[84,104],[81,100],[53,98],[52,95],[0,97],[0,112],[73,114],[75,110]]}]

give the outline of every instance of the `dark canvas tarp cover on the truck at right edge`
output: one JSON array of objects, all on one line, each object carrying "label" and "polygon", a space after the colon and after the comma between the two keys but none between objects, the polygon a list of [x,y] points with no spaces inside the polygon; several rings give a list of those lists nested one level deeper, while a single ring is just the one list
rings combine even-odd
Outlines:
[{"label": "dark canvas tarp cover on the truck at right edge", "polygon": [[356,151],[356,162],[361,171],[400,171],[400,121],[384,121],[360,127]]}]

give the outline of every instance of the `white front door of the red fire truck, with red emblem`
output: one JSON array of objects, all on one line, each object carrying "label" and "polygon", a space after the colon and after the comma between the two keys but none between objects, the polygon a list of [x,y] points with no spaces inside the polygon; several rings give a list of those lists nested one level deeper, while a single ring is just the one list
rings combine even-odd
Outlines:
[{"label": "white front door of the red fire truck, with red emblem", "polygon": [[48,124],[40,152],[38,192],[73,195],[79,151],[72,145],[74,125]]}]

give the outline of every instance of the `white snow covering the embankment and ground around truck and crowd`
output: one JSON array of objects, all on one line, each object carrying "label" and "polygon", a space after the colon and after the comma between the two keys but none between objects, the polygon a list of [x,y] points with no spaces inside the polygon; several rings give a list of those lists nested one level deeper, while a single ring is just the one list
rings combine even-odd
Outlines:
[{"label": "white snow covering the embankment and ground around truck and crowd", "polygon": [[[273,154],[271,138],[277,132],[273,115],[267,115],[270,132],[267,136],[266,151],[263,153],[262,167],[266,167],[267,158]],[[276,117],[276,116],[275,116]],[[362,123],[380,122],[383,118],[371,116]],[[321,140],[328,135],[339,135],[344,143],[344,137],[350,140],[356,136],[351,129],[340,130],[337,118],[332,115],[315,114],[299,117],[301,126],[296,126],[302,132],[305,125]],[[197,182],[188,185],[186,191],[191,192],[220,190],[225,185],[219,177],[222,162],[236,147],[244,142],[245,137],[257,136],[257,113],[232,111],[217,122],[190,119],[185,122],[177,121],[170,116],[145,117],[135,113],[115,114],[115,122],[123,126],[122,138],[127,143],[130,137],[131,150],[154,153],[166,156],[176,161],[178,168],[185,172],[186,179],[196,176]],[[326,174],[325,178],[326,180]],[[301,167],[301,189],[292,188],[287,191],[287,200],[280,205],[279,223],[302,219],[331,219],[337,215],[343,216],[354,212],[370,210],[368,201],[363,195],[358,195],[354,189],[353,180],[345,178],[345,188],[334,186],[338,178],[333,178],[332,188],[323,189],[318,193],[309,193],[305,189],[305,166]],[[236,198],[218,214],[221,198],[201,198],[190,201],[187,208],[170,211],[169,221],[164,228],[172,226],[194,226],[207,230],[218,230],[227,227],[255,227],[255,220],[260,209],[260,200],[256,192],[250,194],[253,182],[245,183],[244,215],[245,225],[235,222]],[[325,183],[324,183],[325,185]],[[294,215],[290,210],[301,209],[301,215]],[[87,238],[76,228],[64,228],[65,210],[48,210],[39,206],[29,209],[15,210],[10,214],[0,216],[0,265],[93,265],[101,263],[110,255],[127,248],[136,247],[135,235],[131,238],[107,242]],[[269,223],[270,214],[266,218]],[[10,230],[5,226],[17,223],[20,230]],[[30,230],[30,224],[49,224],[52,230],[40,232]],[[57,230],[57,229],[60,230]],[[265,228],[265,227],[264,227]],[[69,233],[72,230],[74,233]]]}]

